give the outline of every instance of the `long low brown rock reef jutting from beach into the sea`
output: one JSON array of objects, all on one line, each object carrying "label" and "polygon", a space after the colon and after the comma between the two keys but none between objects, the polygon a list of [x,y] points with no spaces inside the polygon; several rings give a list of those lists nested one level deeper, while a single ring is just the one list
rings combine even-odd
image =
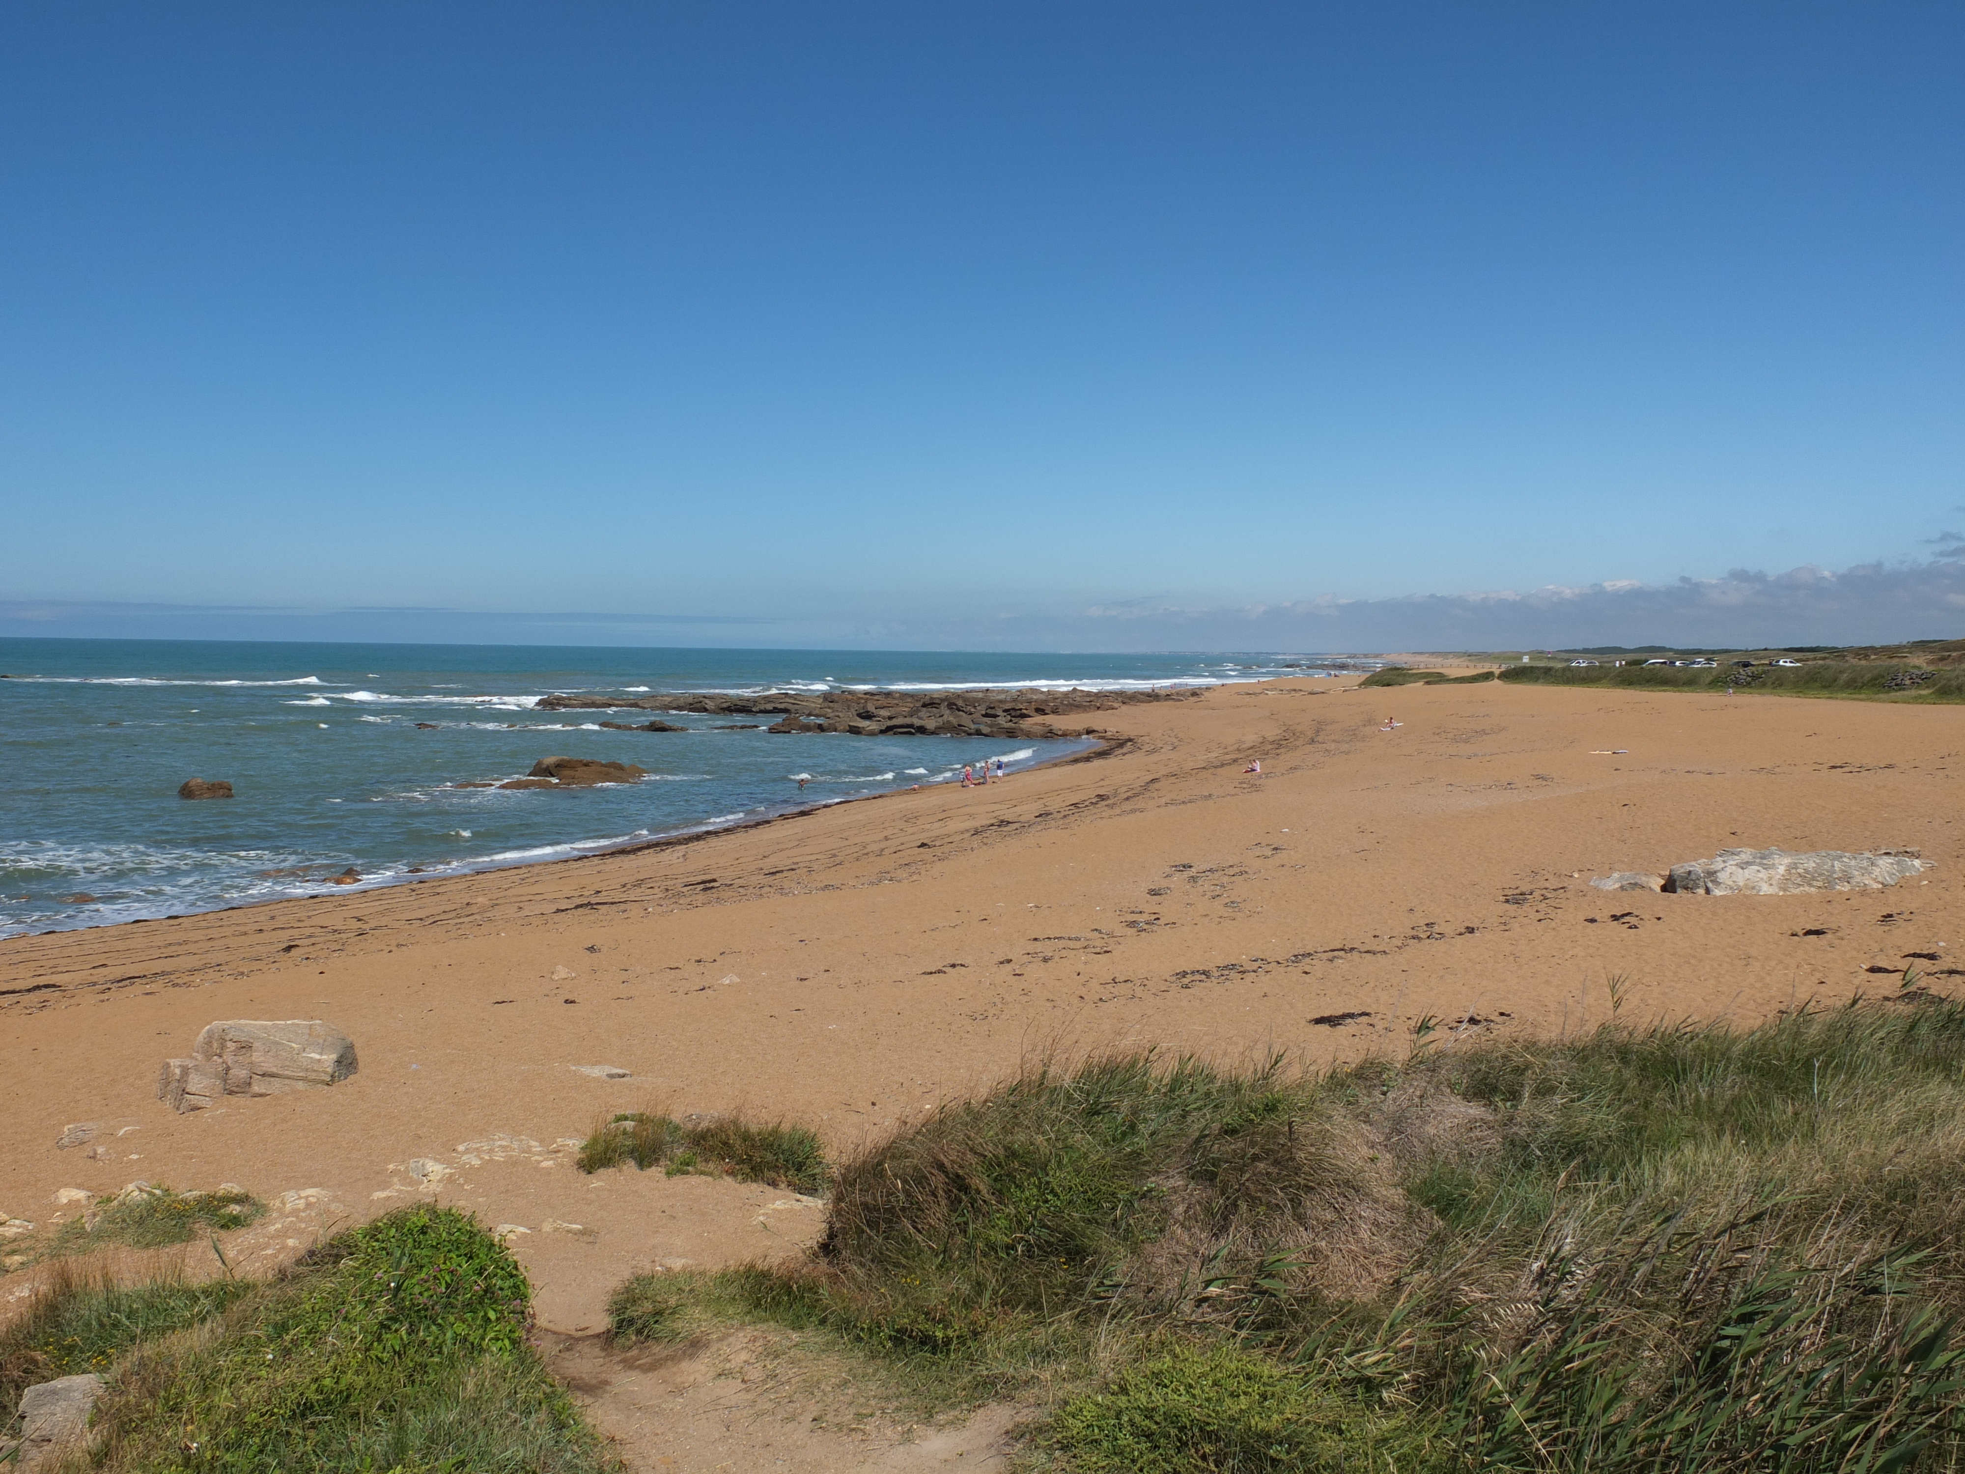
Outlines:
[{"label": "long low brown rock reef jutting from beach into the sea", "polygon": [[[707,696],[670,692],[621,700],[615,696],[542,696],[534,711],[686,711],[692,715],[776,715],[766,731],[833,731],[851,737],[1091,737],[1096,727],[1057,727],[1055,717],[1114,711],[1144,702],[1189,702],[1179,692],[823,692],[814,696]],[[650,723],[641,731],[662,731]]]}]

